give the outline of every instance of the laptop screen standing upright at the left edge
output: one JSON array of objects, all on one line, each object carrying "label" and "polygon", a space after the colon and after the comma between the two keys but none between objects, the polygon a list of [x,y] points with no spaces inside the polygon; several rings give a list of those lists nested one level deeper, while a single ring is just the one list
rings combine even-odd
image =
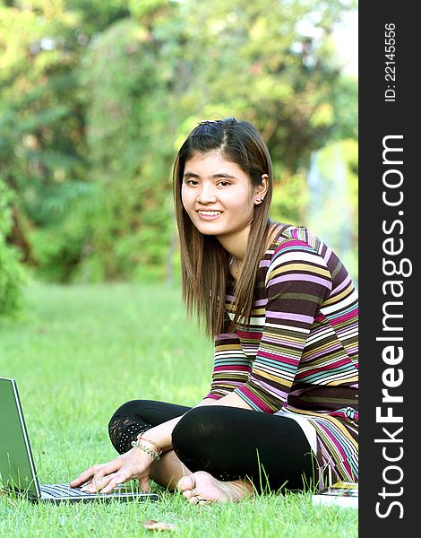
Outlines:
[{"label": "laptop screen standing upright at the left edge", "polygon": [[4,377],[0,377],[0,483],[39,497],[16,382]]}]

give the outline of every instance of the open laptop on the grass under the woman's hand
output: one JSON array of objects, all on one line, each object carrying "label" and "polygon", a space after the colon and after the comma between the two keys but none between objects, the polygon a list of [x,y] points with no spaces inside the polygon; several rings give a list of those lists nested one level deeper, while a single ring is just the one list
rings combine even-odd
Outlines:
[{"label": "open laptop on the grass under the woman's hand", "polygon": [[88,493],[69,484],[40,484],[30,449],[18,386],[14,379],[0,377],[0,489],[23,495],[35,502],[92,500],[159,500],[157,493],[142,491],[134,482],[120,484],[110,493]]}]

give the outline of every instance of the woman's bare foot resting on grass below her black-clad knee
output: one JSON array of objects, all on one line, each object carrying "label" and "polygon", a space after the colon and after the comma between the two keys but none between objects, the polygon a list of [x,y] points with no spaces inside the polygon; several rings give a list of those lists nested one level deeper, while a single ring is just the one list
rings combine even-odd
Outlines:
[{"label": "woman's bare foot resting on grass below her black-clad knee", "polygon": [[178,481],[177,487],[192,504],[235,502],[253,493],[252,484],[246,480],[221,482],[205,471],[184,476]]}]

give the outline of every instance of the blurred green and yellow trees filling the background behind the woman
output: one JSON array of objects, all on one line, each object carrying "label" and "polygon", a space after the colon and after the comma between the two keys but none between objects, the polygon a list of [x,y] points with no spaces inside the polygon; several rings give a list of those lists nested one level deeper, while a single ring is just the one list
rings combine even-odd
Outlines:
[{"label": "blurred green and yellow trees filling the background behind the woman", "polygon": [[311,155],[357,140],[357,81],[331,46],[352,2],[12,4],[0,4],[0,166],[43,278],[171,279],[171,166],[205,117],[262,131],[272,216],[291,223],[308,213]]}]

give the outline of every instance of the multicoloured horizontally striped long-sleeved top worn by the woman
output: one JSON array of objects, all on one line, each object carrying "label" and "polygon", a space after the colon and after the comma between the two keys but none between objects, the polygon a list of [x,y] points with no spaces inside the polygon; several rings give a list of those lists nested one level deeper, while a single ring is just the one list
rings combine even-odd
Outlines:
[{"label": "multicoloured horizontally striped long-sleeved top worn by the woman", "polygon": [[309,230],[285,225],[260,263],[250,324],[215,338],[207,397],[234,391],[257,412],[304,419],[315,430],[320,483],[357,481],[357,334],[348,271]]}]

